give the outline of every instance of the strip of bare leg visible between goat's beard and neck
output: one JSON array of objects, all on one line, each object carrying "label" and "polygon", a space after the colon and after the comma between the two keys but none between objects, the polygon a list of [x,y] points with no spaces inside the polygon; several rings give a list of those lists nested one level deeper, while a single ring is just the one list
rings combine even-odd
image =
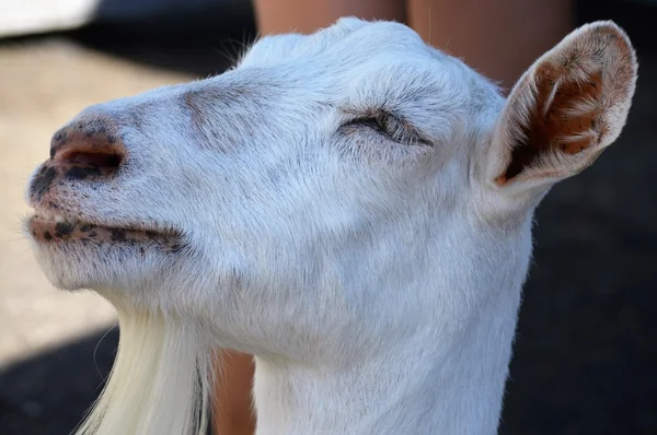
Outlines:
[{"label": "strip of bare leg visible between goat's beard and neck", "polygon": [[253,357],[231,351],[223,351],[221,356],[222,367],[217,372],[218,383],[212,410],[214,434],[253,435]]}]

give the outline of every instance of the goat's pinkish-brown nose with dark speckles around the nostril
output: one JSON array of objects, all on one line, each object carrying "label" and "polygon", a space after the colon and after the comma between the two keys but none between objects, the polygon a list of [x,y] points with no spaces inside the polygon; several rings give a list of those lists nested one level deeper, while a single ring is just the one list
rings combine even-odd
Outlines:
[{"label": "goat's pinkish-brown nose with dark speckles around the nostril", "polygon": [[125,161],[125,146],[111,120],[65,127],[50,141],[50,160],[73,178],[111,175]]}]

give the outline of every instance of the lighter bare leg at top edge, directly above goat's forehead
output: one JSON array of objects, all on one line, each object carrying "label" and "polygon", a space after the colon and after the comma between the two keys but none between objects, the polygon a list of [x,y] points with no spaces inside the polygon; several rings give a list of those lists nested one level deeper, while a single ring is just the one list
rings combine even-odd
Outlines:
[{"label": "lighter bare leg at top edge, directly above goat's forehead", "polygon": [[405,19],[404,0],[254,0],[256,21],[262,35],[312,33],[341,16],[366,20]]}]

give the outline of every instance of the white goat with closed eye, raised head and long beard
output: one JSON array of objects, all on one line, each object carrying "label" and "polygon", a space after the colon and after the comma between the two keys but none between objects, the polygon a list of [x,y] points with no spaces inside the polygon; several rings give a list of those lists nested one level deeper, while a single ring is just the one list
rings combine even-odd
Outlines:
[{"label": "white goat with closed eye, raised head and long beard", "polygon": [[494,434],[533,210],[616,139],[636,69],[595,23],[505,102],[404,25],[343,19],[87,108],[26,222],[55,285],[119,314],[79,433],[203,433],[228,348],[255,355],[258,434]]}]

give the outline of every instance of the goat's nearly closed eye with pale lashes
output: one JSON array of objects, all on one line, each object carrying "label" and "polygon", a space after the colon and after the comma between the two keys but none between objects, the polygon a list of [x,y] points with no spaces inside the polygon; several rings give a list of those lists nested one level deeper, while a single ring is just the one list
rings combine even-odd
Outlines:
[{"label": "goat's nearly closed eye with pale lashes", "polygon": [[344,124],[343,128],[366,128],[401,144],[430,145],[408,122],[384,110],[357,116]]}]

